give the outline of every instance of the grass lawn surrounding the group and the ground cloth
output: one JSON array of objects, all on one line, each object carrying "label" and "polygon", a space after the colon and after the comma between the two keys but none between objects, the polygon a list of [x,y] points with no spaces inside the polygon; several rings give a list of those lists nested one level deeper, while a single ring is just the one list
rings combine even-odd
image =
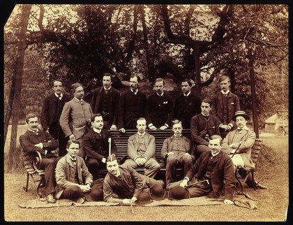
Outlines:
[{"label": "grass lawn surrounding the group and the ground cloth", "polygon": [[[268,189],[246,188],[259,202],[256,210],[236,205],[207,206],[135,206],[135,214],[128,206],[60,207],[24,209],[18,204],[36,198],[33,185],[26,193],[24,169],[4,171],[4,219],[7,222],[49,221],[189,221],[189,222],[284,222],[289,205],[289,145],[288,136],[261,133],[263,148],[255,173],[256,180]],[[5,151],[7,153],[7,150]]]}]

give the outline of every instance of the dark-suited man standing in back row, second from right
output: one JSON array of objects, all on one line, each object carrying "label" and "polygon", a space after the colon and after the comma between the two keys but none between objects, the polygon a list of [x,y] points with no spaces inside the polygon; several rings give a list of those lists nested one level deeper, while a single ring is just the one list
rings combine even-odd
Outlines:
[{"label": "dark-suited man standing in back row, second from right", "polygon": [[200,113],[201,99],[191,91],[192,82],[185,79],[181,82],[182,92],[175,100],[174,118],[182,122],[183,129],[190,129],[190,120]]}]

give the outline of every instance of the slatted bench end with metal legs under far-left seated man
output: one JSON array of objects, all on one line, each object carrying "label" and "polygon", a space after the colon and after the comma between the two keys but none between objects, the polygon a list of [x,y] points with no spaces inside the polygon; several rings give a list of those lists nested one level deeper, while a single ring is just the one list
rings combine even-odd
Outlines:
[{"label": "slatted bench end with metal legs under far-left seated man", "polygon": [[22,157],[24,159],[24,168],[27,170],[27,183],[23,187],[24,191],[29,189],[29,177],[33,180],[33,185],[36,188],[36,194],[40,198],[41,194],[39,189],[45,187],[45,171],[38,169],[38,164],[42,160],[39,152],[34,152],[34,154],[27,154],[22,150]]}]

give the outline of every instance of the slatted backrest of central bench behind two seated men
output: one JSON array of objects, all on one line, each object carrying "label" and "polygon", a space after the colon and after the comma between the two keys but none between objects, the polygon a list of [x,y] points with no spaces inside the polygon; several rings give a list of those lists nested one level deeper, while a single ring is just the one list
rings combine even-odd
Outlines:
[{"label": "slatted backrest of central bench behind two seated men", "polygon": [[[121,158],[124,156],[127,156],[127,141],[130,136],[135,134],[137,130],[126,130],[125,133],[120,133],[119,131],[110,131],[112,135],[112,139],[114,140],[114,143],[117,146],[117,157]],[[148,133],[153,135],[155,137],[155,143],[156,143],[156,152],[155,157],[159,161],[160,160],[160,154],[162,151],[163,143],[166,138],[169,138],[173,135],[173,131],[168,130],[148,130]],[[182,135],[186,138],[190,139],[190,129],[183,129]],[[191,140],[191,139],[190,139]]]}]

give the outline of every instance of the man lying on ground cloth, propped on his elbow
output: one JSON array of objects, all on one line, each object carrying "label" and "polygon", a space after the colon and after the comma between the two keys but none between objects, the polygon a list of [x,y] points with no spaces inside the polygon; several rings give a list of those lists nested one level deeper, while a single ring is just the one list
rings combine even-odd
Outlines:
[{"label": "man lying on ground cloth, propped on his elbow", "polygon": [[[132,205],[137,199],[142,200],[144,197],[139,196],[144,193],[148,193],[153,200],[165,197],[163,180],[147,177],[124,165],[119,166],[114,155],[107,157],[106,164],[108,173],[103,185],[105,202]],[[146,198],[144,200],[147,201]]]}]

